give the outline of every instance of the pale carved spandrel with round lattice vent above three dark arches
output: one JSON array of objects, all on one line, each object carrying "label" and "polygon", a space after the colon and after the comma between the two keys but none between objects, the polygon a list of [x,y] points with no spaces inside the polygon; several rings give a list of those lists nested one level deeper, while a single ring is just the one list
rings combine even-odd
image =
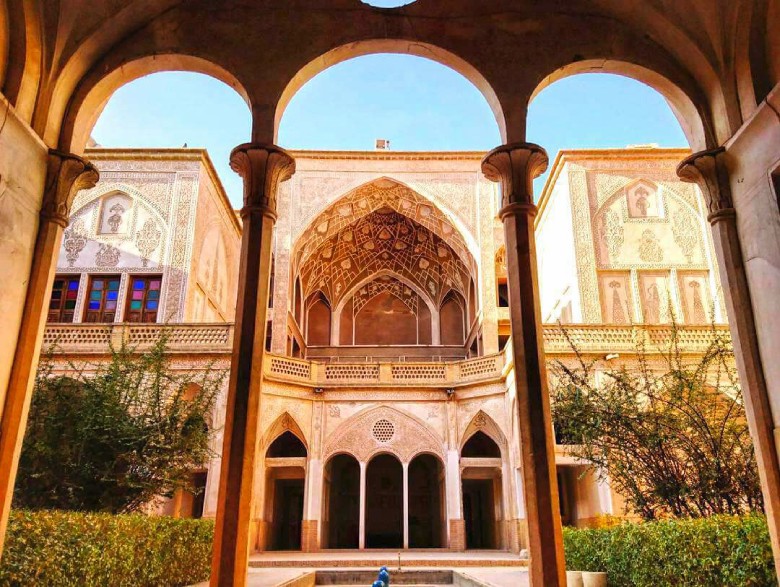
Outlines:
[{"label": "pale carved spandrel with round lattice vent above three dark arches", "polygon": [[407,463],[418,454],[430,453],[443,462],[443,445],[444,440],[418,418],[382,405],[367,408],[340,424],[326,439],[322,460],[347,453],[368,462],[374,455],[388,453]]}]

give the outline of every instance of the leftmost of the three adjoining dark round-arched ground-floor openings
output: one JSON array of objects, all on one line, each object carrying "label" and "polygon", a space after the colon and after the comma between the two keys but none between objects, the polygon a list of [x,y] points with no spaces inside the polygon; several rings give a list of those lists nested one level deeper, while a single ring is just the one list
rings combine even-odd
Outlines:
[{"label": "leftmost of the three adjoining dark round-arched ground-floor openings", "polygon": [[323,548],[357,548],[360,537],[360,464],[338,454],[325,465],[322,494]]}]

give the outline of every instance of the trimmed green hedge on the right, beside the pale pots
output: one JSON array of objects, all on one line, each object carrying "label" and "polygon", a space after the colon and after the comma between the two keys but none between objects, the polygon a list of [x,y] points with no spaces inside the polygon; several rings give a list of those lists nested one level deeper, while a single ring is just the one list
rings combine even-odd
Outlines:
[{"label": "trimmed green hedge on the right, beside the pale pots", "polygon": [[611,587],[776,585],[763,516],[566,528],[566,567],[606,571]]}]

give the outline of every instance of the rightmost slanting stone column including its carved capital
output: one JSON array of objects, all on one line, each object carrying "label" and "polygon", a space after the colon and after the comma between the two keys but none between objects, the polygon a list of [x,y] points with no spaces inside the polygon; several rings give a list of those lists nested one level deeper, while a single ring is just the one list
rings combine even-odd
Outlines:
[{"label": "rightmost slanting stone column including its carved capital", "polygon": [[712,225],[712,240],[723,285],[734,356],[758,461],[764,508],[775,555],[775,571],[780,576],[780,462],[750,289],[737,233],[737,214],[731,197],[726,157],[723,147],[694,153],[677,166],[677,175],[683,181],[699,186],[709,211],[707,219]]}]

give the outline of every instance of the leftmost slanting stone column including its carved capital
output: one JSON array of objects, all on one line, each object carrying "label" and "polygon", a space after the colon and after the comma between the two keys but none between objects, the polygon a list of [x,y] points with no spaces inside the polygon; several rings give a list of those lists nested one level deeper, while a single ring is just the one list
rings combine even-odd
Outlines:
[{"label": "leftmost slanting stone column including its carved capital", "polygon": [[62,232],[68,226],[70,206],[76,193],[94,187],[97,180],[98,171],[88,161],[70,153],[49,150],[27,297],[0,420],[0,554],[27,427]]}]

